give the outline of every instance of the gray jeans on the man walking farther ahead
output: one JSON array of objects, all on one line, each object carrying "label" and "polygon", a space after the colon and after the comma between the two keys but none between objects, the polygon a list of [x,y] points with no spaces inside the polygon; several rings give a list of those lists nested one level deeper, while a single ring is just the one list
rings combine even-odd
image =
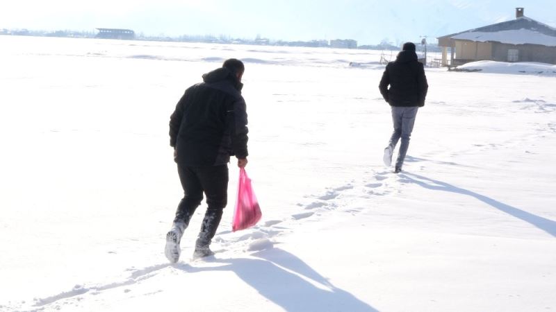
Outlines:
[{"label": "gray jeans on the man walking farther ahead", "polygon": [[391,146],[393,150],[396,144],[398,144],[400,138],[402,139],[400,151],[398,151],[398,159],[395,161],[395,166],[402,168],[405,154],[407,154],[407,148],[409,148],[409,138],[411,137],[411,132],[413,131],[413,125],[415,124],[415,118],[419,107],[392,106],[391,108],[394,132],[392,132],[392,137],[390,137],[389,146]]}]

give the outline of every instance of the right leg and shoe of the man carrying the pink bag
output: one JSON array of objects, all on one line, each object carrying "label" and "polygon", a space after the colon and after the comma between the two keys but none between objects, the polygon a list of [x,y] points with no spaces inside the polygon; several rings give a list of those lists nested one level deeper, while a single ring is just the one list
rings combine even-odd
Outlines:
[{"label": "right leg and shoe of the man carrying the pink bag", "polygon": [[222,212],[228,201],[228,166],[199,168],[199,180],[206,195],[205,216],[195,243],[195,256],[206,257],[212,254],[208,248],[220,225]]}]

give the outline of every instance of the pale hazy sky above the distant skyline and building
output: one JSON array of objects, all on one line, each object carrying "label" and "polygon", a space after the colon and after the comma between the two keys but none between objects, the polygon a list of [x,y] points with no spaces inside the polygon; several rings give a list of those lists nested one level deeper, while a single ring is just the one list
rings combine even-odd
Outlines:
[{"label": "pale hazy sky above the distant skyline and building", "polygon": [[1,5],[0,28],[398,44],[514,19],[516,7],[556,27],[556,0],[13,0]]}]

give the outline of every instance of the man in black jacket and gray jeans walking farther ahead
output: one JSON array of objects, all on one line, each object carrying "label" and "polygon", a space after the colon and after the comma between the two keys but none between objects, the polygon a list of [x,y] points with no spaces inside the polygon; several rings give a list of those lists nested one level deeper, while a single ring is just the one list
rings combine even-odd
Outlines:
[{"label": "man in black jacket and gray jeans walking farther ahead", "polygon": [[425,105],[428,88],[423,64],[417,61],[415,44],[406,42],[395,61],[386,65],[379,84],[382,97],[391,106],[394,124],[389,144],[384,148],[383,160],[386,166],[391,165],[393,150],[400,138],[402,139],[395,162],[395,173],[402,171],[417,110]]}]

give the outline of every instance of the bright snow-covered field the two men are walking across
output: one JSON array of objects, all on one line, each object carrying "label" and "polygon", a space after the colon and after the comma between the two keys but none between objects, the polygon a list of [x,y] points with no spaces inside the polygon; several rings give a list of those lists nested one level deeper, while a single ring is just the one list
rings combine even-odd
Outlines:
[{"label": "bright snow-covered field the two men are walking across", "polygon": [[[553,74],[427,69],[396,175],[381,51],[0,46],[0,311],[556,310]],[[246,64],[263,219],[231,232],[232,164],[217,254],[190,259],[202,205],[172,266],[169,117],[226,58]]]}]

